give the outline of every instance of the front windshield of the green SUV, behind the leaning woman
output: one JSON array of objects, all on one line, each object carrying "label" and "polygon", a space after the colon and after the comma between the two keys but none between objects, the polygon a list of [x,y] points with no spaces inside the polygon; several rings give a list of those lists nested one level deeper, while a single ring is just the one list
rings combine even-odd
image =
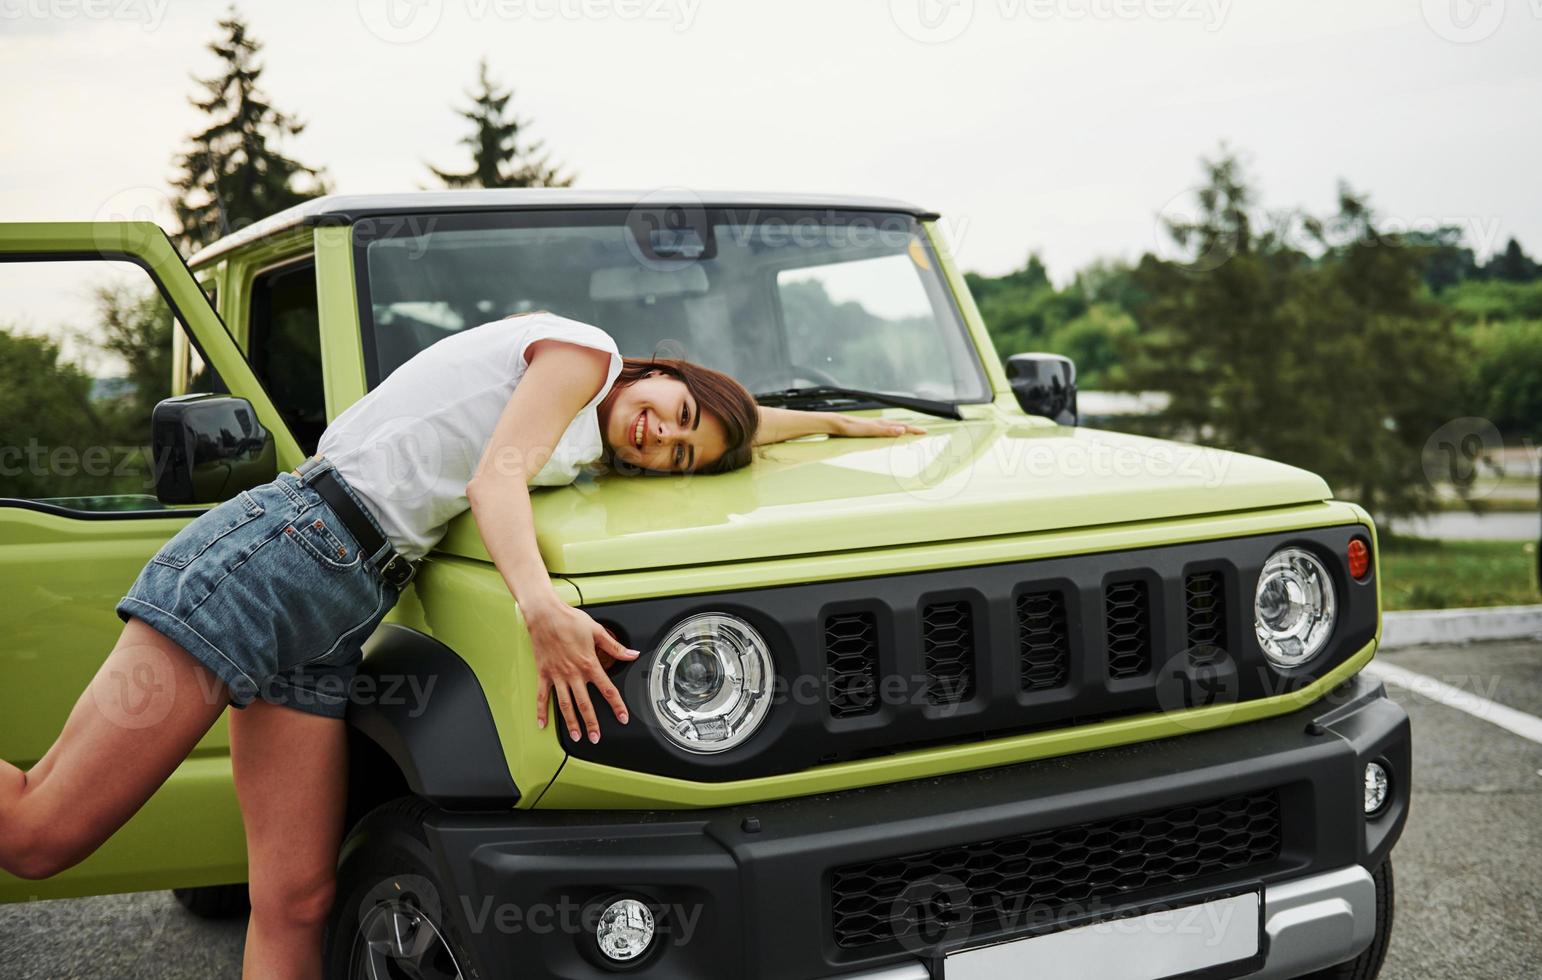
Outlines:
[{"label": "front windshield of the green SUV, behind the leaning woman", "polygon": [[549,310],[629,357],[685,357],[754,393],[811,385],[988,399],[914,217],[632,208],[361,220],[365,367],[378,384],[455,331]]}]

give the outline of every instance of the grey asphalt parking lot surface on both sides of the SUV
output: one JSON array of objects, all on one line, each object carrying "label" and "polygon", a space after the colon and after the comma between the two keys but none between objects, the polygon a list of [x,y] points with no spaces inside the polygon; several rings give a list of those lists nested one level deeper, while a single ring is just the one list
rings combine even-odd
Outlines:
[{"label": "grey asphalt parking lot surface on both sides of the SUV", "polygon": [[[1542,643],[1385,658],[1542,717]],[[1394,852],[1397,925],[1383,980],[1542,975],[1542,744],[1420,693],[1392,696],[1412,717],[1416,789]],[[0,977],[236,977],[244,929],[199,921],[168,892],[0,906]]]}]

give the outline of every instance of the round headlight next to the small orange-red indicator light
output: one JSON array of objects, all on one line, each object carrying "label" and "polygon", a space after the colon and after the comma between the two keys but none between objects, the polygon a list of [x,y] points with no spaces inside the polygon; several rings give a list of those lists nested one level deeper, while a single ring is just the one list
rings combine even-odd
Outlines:
[{"label": "round headlight next to the small orange-red indicator light", "polygon": [[1280,549],[1263,564],[1254,593],[1254,630],[1277,667],[1297,667],[1317,656],[1334,632],[1337,612],[1334,582],[1311,552]]}]

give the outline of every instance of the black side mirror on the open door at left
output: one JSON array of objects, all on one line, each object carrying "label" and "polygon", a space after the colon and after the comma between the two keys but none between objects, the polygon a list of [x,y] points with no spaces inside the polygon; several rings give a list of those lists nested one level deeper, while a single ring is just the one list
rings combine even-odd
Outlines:
[{"label": "black side mirror on the open door at left", "polygon": [[180,394],[150,419],[162,504],[217,504],[278,476],[273,433],[244,398]]}]

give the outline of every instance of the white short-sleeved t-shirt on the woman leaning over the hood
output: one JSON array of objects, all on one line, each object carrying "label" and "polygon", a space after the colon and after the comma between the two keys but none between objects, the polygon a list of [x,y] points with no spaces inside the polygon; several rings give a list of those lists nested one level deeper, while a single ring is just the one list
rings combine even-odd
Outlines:
[{"label": "white short-sleeved t-shirt on the woman leaning over the hood", "polygon": [[322,433],[316,451],[336,464],[404,558],[427,555],[450,518],[470,507],[466,484],[524,378],[526,348],[543,339],[611,354],[600,393],[578,411],[530,481],[569,484],[604,450],[595,407],[621,373],[621,351],[598,327],[554,313],[493,321],[429,345]]}]

